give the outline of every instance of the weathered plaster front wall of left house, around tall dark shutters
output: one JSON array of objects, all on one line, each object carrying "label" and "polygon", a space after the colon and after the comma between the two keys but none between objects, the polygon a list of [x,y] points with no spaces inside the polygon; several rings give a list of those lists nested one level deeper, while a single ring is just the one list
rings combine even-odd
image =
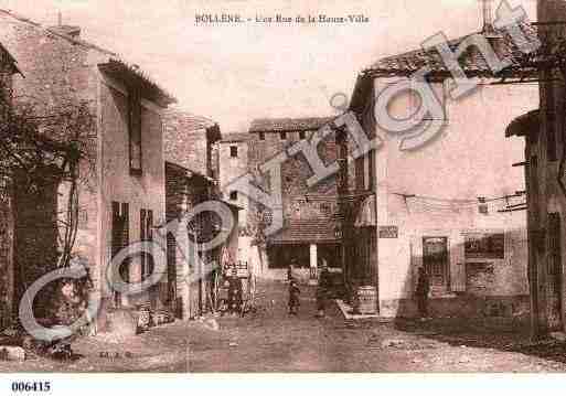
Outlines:
[{"label": "weathered plaster front wall of left house, around tall dark shutters", "polygon": [[[141,150],[142,174],[130,174],[129,139],[127,127],[127,96],[105,83],[100,75],[100,119],[102,119],[102,164],[103,183],[100,186],[100,226],[103,238],[100,251],[104,251],[102,276],[110,261],[111,246],[111,202],[129,203],[129,240],[140,239],[140,210],[153,211],[153,224],[165,221],[165,175],[163,158],[163,137],[161,115],[158,109],[142,106]],[[139,257],[130,265],[130,279],[139,281],[141,269]],[[163,276],[162,283],[167,282]],[[162,286],[161,286],[162,287]],[[109,289],[103,286],[105,296]],[[160,296],[163,297],[162,295]],[[126,302],[135,304],[147,301],[148,292],[130,297]],[[163,302],[163,301],[161,301]],[[154,301],[154,303],[158,303]]]}]

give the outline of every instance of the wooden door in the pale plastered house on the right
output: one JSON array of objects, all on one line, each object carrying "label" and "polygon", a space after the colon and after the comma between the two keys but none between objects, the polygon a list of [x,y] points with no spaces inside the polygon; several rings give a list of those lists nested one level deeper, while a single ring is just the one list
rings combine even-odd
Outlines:
[{"label": "wooden door in the pale plastered house on the right", "polygon": [[423,237],[423,265],[430,279],[432,292],[444,292],[449,289],[448,238]]}]

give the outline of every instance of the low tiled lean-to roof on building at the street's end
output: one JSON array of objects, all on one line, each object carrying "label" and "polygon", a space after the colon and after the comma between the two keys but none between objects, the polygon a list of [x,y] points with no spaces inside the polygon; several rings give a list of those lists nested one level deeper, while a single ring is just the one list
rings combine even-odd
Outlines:
[{"label": "low tiled lean-to roof on building at the street's end", "polygon": [[268,244],[338,243],[332,218],[291,220],[279,233],[267,238]]}]

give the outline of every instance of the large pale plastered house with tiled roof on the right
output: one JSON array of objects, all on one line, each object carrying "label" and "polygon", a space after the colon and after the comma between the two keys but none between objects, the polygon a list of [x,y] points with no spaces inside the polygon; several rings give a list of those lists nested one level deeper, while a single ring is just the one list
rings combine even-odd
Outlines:
[{"label": "large pale plastered house with tiled roof on the right", "polygon": [[[498,56],[517,61],[516,44],[495,31],[484,15],[482,33]],[[524,25],[528,40],[533,30]],[[450,41],[452,51],[467,36]],[[350,267],[355,280],[375,286],[384,317],[417,314],[418,268],[431,279],[432,315],[526,317],[528,312],[527,233],[523,145],[504,141],[506,125],[538,106],[536,83],[501,84],[525,77],[520,71],[494,74],[479,51],[459,58],[479,87],[451,99],[450,71],[436,50],[416,50],[382,58],[362,72],[351,109],[370,137],[383,146],[355,161],[356,191],[373,195],[356,202]],[[399,148],[403,133],[389,133],[376,119],[374,97],[427,66],[428,85],[442,106],[441,132],[415,150]],[[528,76],[528,75],[527,75]],[[413,117],[419,99],[405,92],[389,101],[389,115]],[[504,105],[503,105],[504,104]],[[370,238],[370,243],[366,242]],[[365,240],[365,242],[364,242]]]}]

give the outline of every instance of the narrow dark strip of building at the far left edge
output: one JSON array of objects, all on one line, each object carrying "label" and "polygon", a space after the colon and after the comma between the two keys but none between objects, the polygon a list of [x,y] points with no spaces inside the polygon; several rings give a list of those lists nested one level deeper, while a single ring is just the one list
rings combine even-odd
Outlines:
[{"label": "narrow dark strip of building at the far left edge", "polygon": [[[0,43],[0,122],[12,107],[13,76],[17,62]],[[0,179],[0,183],[3,180]],[[9,194],[0,184],[0,329],[10,323],[13,307],[13,213]]]}]

